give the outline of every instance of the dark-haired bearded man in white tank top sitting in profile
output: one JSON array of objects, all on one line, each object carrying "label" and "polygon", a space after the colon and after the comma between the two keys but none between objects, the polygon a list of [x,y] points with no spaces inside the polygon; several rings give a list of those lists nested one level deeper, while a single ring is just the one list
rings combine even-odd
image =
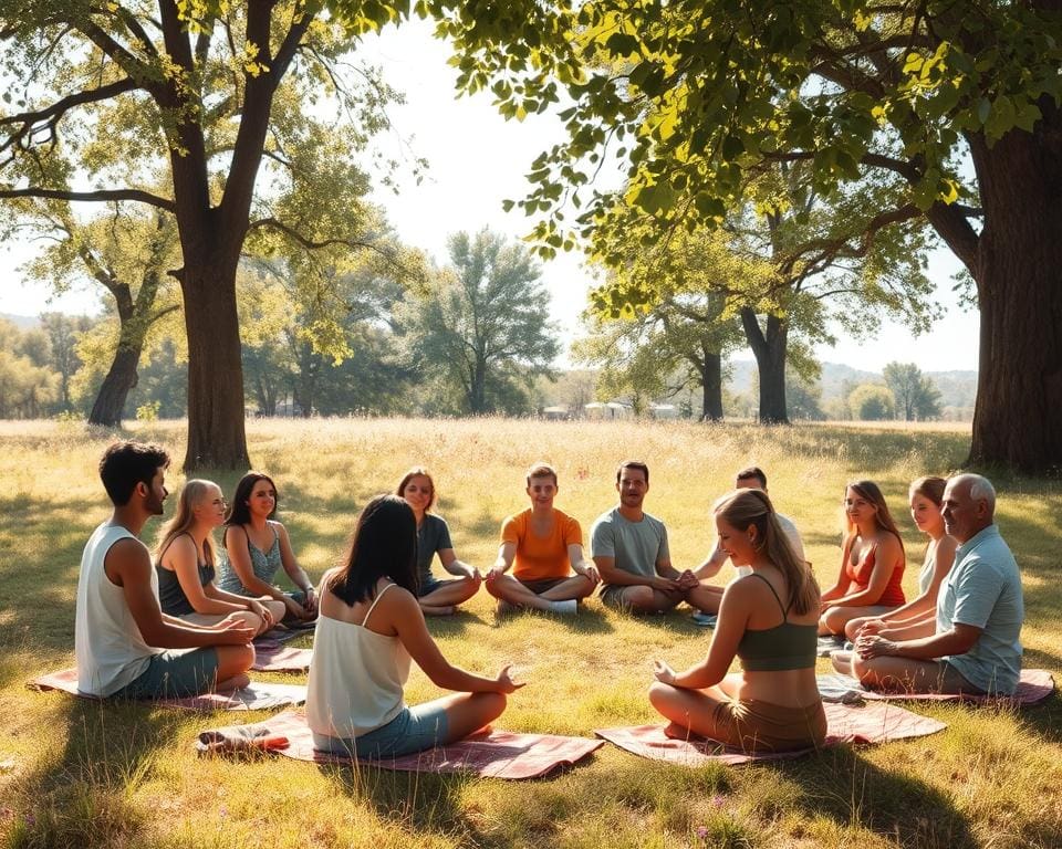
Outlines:
[{"label": "dark-haired bearded man in white tank top sitting in profile", "polygon": [[116,442],[100,461],[114,512],[88,538],[77,579],[77,689],[87,695],[185,696],[247,683],[251,628],[228,619],[194,626],[158,606],[158,578],[137,535],[163,513],[168,465],[164,449],[138,442]]}]

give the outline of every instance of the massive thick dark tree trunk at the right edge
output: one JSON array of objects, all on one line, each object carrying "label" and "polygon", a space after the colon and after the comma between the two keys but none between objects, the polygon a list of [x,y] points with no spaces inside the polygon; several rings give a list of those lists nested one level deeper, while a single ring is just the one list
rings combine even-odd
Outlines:
[{"label": "massive thick dark tree trunk at the right edge", "polygon": [[981,313],[970,462],[1062,469],[1062,115],[971,145],[985,210],[975,280]]}]

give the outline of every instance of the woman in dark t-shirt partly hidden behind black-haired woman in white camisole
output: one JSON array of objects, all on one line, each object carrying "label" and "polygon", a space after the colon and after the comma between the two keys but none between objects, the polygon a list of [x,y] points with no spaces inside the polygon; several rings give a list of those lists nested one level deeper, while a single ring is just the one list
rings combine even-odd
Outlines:
[{"label": "woman in dark t-shirt partly hidden behind black-haired woman in white camisole", "polygon": [[[482,583],[479,569],[461,563],[454,553],[450,528],[442,516],[431,512],[435,481],[427,469],[414,467],[398,483],[395,493],[406,500],[417,518],[417,595],[426,616],[449,616],[468,601]],[[457,577],[439,580],[431,574],[431,560],[439,555],[442,568]]]}]

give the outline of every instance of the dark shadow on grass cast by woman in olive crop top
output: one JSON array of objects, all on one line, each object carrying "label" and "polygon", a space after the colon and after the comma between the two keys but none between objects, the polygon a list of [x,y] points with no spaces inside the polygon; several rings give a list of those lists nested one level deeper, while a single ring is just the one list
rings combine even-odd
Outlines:
[{"label": "dark shadow on grass cast by woman in olive crop top", "polygon": [[[882,769],[852,746],[829,748],[777,769],[801,793],[779,801],[777,810],[770,798],[759,798],[757,808],[769,819],[794,805],[809,819],[823,817],[844,829],[863,827],[897,846],[978,846],[966,817],[945,794],[909,774]],[[749,789],[754,795],[754,786]]]}]

